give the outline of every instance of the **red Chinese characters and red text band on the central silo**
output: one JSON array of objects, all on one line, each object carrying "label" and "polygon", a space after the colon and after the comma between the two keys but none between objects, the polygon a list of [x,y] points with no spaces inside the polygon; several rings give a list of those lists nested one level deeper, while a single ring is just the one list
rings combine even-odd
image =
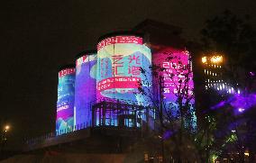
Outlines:
[{"label": "red Chinese characters and red text band on the central silo", "polygon": [[[123,56],[116,54],[110,59],[105,58],[100,60],[101,78],[105,78],[98,82],[97,90],[103,91],[112,88],[138,88],[141,80],[141,58],[139,54]],[[128,64],[128,67],[125,66]],[[108,73],[111,72],[110,76]],[[106,91],[105,94],[114,94],[117,91]],[[134,93],[131,89],[123,89],[119,93]]]}]

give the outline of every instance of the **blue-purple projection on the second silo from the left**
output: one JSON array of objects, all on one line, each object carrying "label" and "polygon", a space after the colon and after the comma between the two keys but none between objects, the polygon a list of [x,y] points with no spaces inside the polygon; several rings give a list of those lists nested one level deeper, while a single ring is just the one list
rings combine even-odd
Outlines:
[{"label": "blue-purple projection on the second silo from the left", "polygon": [[77,59],[75,90],[75,125],[91,126],[91,106],[96,101],[96,53],[87,53]]}]

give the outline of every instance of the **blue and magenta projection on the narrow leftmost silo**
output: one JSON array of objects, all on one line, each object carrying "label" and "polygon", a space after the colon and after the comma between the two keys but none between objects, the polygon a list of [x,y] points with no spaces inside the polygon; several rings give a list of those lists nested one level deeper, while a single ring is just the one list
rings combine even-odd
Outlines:
[{"label": "blue and magenta projection on the narrow leftmost silo", "polygon": [[75,68],[59,71],[56,131],[72,131],[74,125]]}]

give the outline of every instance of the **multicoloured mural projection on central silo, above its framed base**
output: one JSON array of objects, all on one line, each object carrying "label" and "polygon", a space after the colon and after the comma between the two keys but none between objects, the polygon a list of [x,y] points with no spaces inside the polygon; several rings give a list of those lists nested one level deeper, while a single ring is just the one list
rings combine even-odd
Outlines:
[{"label": "multicoloured mural projection on central silo, above its framed base", "polygon": [[150,66],[151,50],[142,44],[141,37],[114,36],[100,41],[97,45],[97,101],[111,99],[144,104],[147,100],[137,94],[138,84],[144,79],[151,81],[151,76],[145,77],[141,70],[151,72]]}]

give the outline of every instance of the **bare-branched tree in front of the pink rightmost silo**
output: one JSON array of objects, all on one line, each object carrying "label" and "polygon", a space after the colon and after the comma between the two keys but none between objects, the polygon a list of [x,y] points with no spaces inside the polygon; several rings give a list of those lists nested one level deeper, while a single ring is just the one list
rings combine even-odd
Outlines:
[{"label": "bare-branched tree in front of the pink rightmost silo", "polygon": [[[163,62],[151,66],[154,87],[142,88],[151,83],[145,79],[139,84],[139,94],[150,99],[149,103],[157,115],[160,139],[165,144],[163,150],[166,150],[162,153],[170,152],[178,161],[196,159],[193,146],[189,145],[193,144],[191,140],[196,131],[190,54],[187,50],[180,53],[164,50],[160,55]],[[147,73],[142,69],[144,76]]]}]

